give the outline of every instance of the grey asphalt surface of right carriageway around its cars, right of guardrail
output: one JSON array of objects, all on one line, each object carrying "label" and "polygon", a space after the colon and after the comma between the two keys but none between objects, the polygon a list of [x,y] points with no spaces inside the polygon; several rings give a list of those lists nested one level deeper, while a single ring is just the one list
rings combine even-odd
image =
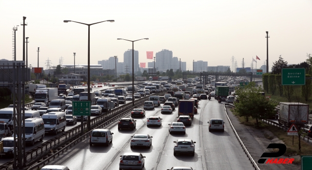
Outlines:
[{"label": "grey asphalt surface of right carriageway around its cars, right of guardrail", "polygon": [[[103,145],[89,146],[89,139],[82,140],[63,155],[56,157],[49,164],[68,166],[71,170],[117,170],[119,155],[126,152],[139,152],[145,158],[145,170],[166,170],[173,166],[191,166],[195,170],[252,170],[253,166],[241,148],[229,121],[226,118],[223,104],[215,99],[199,102],[198,114],[192,125],[187,126],[186,135],[169,134],[168,123],[175,121],[177,110],[173,114],[161,114],[160,106],[146,111],[145,118],[136,118],[137,128],[117,130],[117,121],[107,126],[113,135],[113,142],[108,147]],[[146,118],[160,116],[161,127],[147,127]],[[130,117],[130,114],[128,115]],[[225,121],[225,132],[209,132],[208,121],[221,118]],[[130,149],[130,140],[134,134],[153,136],[150,149]],[[178,138],[190,138],[196,142],[195,156],[173,155],[174,141]]]}]

